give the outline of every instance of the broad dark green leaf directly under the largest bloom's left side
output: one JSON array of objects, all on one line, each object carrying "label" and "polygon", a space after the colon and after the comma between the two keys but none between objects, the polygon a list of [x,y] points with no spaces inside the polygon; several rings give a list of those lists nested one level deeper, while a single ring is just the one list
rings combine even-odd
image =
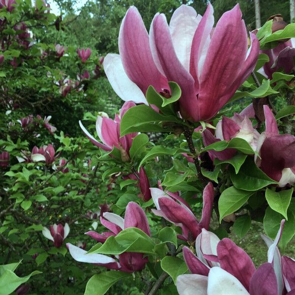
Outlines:
[{"label": "broad dark green leaf directly under the largest bloom's left side", "polygon": [[157,113],[151,107],[139,105],[130,108],[121,119],[120,133],[121,136],[132,132],[156,132],[170,131],[158,125],[160,122],[176,122],[182,121],[176,116],[165,116]]}]

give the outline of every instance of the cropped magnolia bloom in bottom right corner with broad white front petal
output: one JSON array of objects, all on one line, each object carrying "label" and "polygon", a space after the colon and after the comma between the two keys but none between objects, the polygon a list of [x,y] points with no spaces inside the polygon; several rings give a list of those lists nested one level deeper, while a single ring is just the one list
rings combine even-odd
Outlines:
[{"label": "cropped magnolia bloom in bottom right corner with broad white front petal", "polygon": [[[184,260],[192,274],[177,277],[179,295],[287,294],[282,276],[282,259],[277,248],[284,222],[285,220],[282,220],[274,241],[263,236],[268,246],[267,263],[257,269],[247,253],[229,238],[220,240],[213,233],[203,229],[202,234],[196,239],[197,256],[188,247],[183,248]],[[289,258],[283,258],[283,261],[285,269],[289,270]],[[287,274],[288,271],[283,272],[287,275],[286,280],[294,286],[294,270],[290,274]],[[291,289],[289,286],[289,290]]]}]

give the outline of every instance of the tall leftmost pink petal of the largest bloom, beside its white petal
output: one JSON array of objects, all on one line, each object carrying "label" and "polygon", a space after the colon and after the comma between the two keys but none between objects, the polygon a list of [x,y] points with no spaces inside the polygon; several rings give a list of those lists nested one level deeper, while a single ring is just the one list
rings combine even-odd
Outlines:
[{"label": "tall leftmost pink petal of the largest bloom, beside its white petal", "polygon": [[158,71],[149,48],[148,32],[136,7],[131,6],[119,31],[119,53],[127,76],[143,93],[152,85],[156,91],[169,89],[167,79]]}]

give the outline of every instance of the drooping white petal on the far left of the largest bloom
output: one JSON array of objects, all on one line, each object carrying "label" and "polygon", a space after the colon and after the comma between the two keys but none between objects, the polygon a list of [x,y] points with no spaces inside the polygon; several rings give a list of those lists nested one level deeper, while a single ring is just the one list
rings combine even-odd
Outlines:
[{"label": "drooping white petal on the far left of the largest bloom", "polygon": [[103,68],[112,88],[122,100],[148,104],[143,91],[128,78],[118,54],[107,54]]}]

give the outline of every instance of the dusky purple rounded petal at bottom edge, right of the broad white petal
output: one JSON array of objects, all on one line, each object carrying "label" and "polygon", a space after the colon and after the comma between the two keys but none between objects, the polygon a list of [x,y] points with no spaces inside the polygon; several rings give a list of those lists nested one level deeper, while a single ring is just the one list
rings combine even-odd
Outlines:
[{"label": "dusky purple rounded petal at bottom edge, right of the broad white petal", "polygon": [[250,281],[251,295],[278,295],[278,284],[270,263],[264,263],[254,272]]}]

